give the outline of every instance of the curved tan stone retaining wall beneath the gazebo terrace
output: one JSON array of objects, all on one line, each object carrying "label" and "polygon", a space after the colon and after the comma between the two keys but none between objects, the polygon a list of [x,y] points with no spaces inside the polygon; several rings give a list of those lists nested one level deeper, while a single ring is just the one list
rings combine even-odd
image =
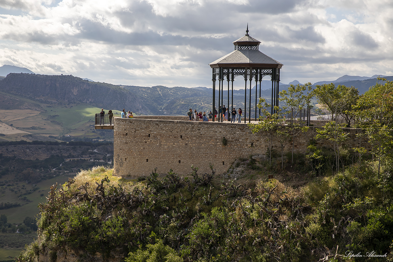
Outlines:
[{"label": "curved tan stone retaining wall beneath the gazebo terrace", "polygon": [[[314,132],[310,128],[296,138],[295,152],[306,152]],[[347,128],[346,132],[353,133],[347,147],[356,146],[354,130]],[[331,142],[319,140],[317,145],[329,147]],[[281,152],[277,141],[273,148]],[[210,163],[220,174],[235,159],[264,155],[267,150],[266,134],[252,134],[243,123],[114,118],[114,174],[118,176],[138,178],[151,174],[154,168],[158,173],[173,169],[178,174],[189,174],[191,165],[204,173],[210,172]],[[284,151],[291,150],[292,144],[286,145]]]}]

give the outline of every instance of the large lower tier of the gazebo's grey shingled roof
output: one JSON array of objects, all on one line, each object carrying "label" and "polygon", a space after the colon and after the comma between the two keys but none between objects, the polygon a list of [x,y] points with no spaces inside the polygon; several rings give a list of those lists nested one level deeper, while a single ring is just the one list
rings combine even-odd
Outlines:
[{"label": "large lower tier of the gazebo's grey shingled roof", "polygon": [[[259,41],[258,41],[259,42]],[[215,67],[258,67],[258,68],[281,68],[283,64],[265,55],[259,50],[235,50],[223,57],[211,62],[211,68]]]}]

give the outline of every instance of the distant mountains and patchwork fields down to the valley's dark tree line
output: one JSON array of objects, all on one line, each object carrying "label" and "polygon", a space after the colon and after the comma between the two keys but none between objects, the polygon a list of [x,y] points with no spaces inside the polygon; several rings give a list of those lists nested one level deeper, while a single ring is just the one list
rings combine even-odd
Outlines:
[{"label": "distant mountains and patchwork fields down to the valley's dark tree line", "polygon": [[[353,77],[339,78],[337,84],[355,86],[359,93],[364,93],[377,82],[377,79],[345,81],[351,78]],[[262,83],[262,89],[267,89],[261,90],[261,96],[269,102],[271,81]],[[227,89],[224,83],[223,98],[226,106]],[[288,85],[280,85],[280,90],[287,89]],[[249,92],[247,89],[247,98]],[[251,117],[254,117],[255,86],[251,92]],[[0,126],[0,141],[33,141],[40,140],[39,136],[42,141],[46,141],[45,137],[49,136],[61,140],[63,136],[71,136],[73,139],[113,139],[112,131],[94,130],[94,115],[101,108],[106,112],[113,110],[114,113],[125,108],[135,115],[185,115],[189,108],[209,112],[212,102],[212,89],[206,87],[116,86],[72,75],[31,73],[9,73],[0,80],[0,93],[0,121],[3,122]],[[218,97],[219,91],[216,90],[217,109]],[[231,95],[229,104],[232,104]],[[312,104],[316,104],[315,99]],[[244,109],[244,89],[234,90],[233,106]],[[248,106],[247,104],[247,108]],[[244,113],[248,115],[248,111],[247,109]]]}]

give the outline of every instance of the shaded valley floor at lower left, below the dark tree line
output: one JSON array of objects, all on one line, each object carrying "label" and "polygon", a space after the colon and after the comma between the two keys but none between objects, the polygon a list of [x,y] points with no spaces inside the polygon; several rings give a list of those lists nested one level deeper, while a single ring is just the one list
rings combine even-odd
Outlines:
[{"label": "shaded valley floor at lower left, below the dark tree line", "polygon": [[51,185],[65,183],[81,169],[113,166],[113,145],[86,144],[0,142],[0,261],[12,261],[37,237],[37,206],[46,201]]}]

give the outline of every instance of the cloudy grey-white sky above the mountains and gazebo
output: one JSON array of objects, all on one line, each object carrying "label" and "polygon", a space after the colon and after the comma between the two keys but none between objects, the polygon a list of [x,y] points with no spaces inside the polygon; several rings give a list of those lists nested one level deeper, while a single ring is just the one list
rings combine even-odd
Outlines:
[{"label": "cloudy grey-white sky above the mountains and gazebo", "polygon": [[391,0],[0,0],[0,66],[211,87],[208,64],[248,24],[259,51],[284,64],[281,83],[393,75],[392,13]]}]

